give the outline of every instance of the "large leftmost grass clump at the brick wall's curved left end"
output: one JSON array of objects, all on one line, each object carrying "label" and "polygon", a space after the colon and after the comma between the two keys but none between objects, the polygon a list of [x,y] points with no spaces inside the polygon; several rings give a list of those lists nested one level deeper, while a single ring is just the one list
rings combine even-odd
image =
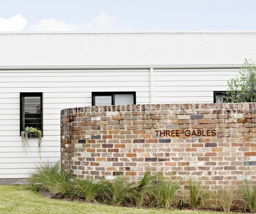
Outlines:
[{"label": "large leftmost grass clump at the brick wall's curved left end", "polygon": [[39,184],[40,189],[50,192],[53,197],[64,197],[69,194],[70,175],[60,169],[60,163],[46,162],[37,165],[30,177],[31,184]]}]

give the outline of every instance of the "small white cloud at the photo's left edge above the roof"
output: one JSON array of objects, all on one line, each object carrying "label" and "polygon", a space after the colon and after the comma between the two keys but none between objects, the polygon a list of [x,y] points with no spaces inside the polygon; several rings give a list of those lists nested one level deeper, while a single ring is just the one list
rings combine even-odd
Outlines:
[{"label": "small white cloud at the photo's left edge above the roof", "polygon": [[22,31],[26,23],[26,18],[21,14],[6,19],[0,18],[0,31]]}]

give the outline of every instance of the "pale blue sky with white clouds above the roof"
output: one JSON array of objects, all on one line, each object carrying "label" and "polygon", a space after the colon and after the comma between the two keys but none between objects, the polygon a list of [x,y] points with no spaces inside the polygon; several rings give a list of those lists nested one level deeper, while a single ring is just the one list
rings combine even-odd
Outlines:
[{"label": "pale blue sky with white clouds above the roof", "polygon": [[256,31],[256,0],[0,0],[0,31]]}]

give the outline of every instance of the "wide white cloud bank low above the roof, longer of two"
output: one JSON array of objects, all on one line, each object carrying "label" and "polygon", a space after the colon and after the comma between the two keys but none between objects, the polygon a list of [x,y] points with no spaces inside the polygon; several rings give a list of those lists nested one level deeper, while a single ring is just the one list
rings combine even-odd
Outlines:
[{"label": "wide white cloud bank low above the roof, longer of two", "polygon": [[117,30],[118,19],[101,12],[90,22],[82,24],[68,23],[54,18],[43,19],[32,25],[30,31],[111,31]]}]

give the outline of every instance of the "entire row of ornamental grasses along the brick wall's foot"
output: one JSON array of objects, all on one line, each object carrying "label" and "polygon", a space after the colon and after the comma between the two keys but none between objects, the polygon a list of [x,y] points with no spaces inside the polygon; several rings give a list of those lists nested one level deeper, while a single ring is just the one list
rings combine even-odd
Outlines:
[{"label": "entire row of ornamental grasses along the brick wall's foot", "polygon": [[[173,177],[164,177],[163,174],[152,175],[149,171],[139,182],[130,182],[124,176],[117,176],[111,181],[74,179],[60,168],[59,162],[38,165],[30,182],[53,198],[82,199],[115,206],[177,208],[180,192],[183,192],[179,191],[181,181],[174,181]],[[240,197],[237,197],[237,193]],[[182,198],[186,197],[192,209],[212,209],[215,206],[218,210],[230,212],[232,206],[242,199],[245,210],[256,212],[256,187],[247,180],[239,191],[233,187],[223,187],[213,194],[202,181],[191,178],[189,194],[182,195]]]}]

